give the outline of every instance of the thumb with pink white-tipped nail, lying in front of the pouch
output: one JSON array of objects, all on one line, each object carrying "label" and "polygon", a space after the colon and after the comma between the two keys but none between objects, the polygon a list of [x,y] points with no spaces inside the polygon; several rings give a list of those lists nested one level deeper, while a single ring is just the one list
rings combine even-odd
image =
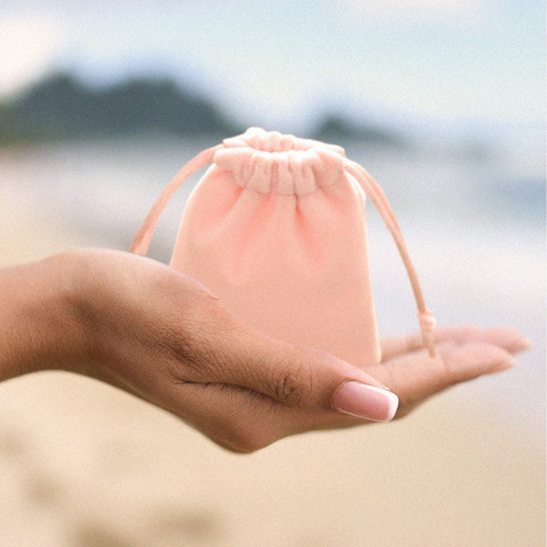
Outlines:
[{"label": "thumb with pink white-tipped nail, lying in front of the pouch", "polygon": [[208,338],[203,381],[251,389],[288,408],[334,410],[374,421],[389,421],[395,415],[397,396],[364,371],[323,351],[276,340],[233,318],[231,323]]}]

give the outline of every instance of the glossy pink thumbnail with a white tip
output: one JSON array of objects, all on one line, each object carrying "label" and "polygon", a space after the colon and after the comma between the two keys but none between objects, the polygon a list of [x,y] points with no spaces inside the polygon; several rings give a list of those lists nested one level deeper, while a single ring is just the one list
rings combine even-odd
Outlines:
[{"label": "glossy pink thumbnail with a white tip", "polygon": [[391,421],[398,405],[394,393],[359,382],[341,384],[331,400],[337,412],[372,421]]}]

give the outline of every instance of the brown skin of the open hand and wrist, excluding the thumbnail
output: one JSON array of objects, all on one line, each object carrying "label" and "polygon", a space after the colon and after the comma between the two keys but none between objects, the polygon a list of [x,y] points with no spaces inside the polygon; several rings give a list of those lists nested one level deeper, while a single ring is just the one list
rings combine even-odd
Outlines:
[{"label": "brown skin of the open hand and wrist, excluding the thumbnail", "polygon": [[245,327],[198,281],[150,258],[88,248],[0,269],[0,381],[47,370],[92,376],[240,453],[370,423],[340,408],[348,382],[387,387],[399,419],[452,385],[511,368],[528,347],[511,328],[434,337],[434,359],[418,335],[396,337],[363,371]]}]

